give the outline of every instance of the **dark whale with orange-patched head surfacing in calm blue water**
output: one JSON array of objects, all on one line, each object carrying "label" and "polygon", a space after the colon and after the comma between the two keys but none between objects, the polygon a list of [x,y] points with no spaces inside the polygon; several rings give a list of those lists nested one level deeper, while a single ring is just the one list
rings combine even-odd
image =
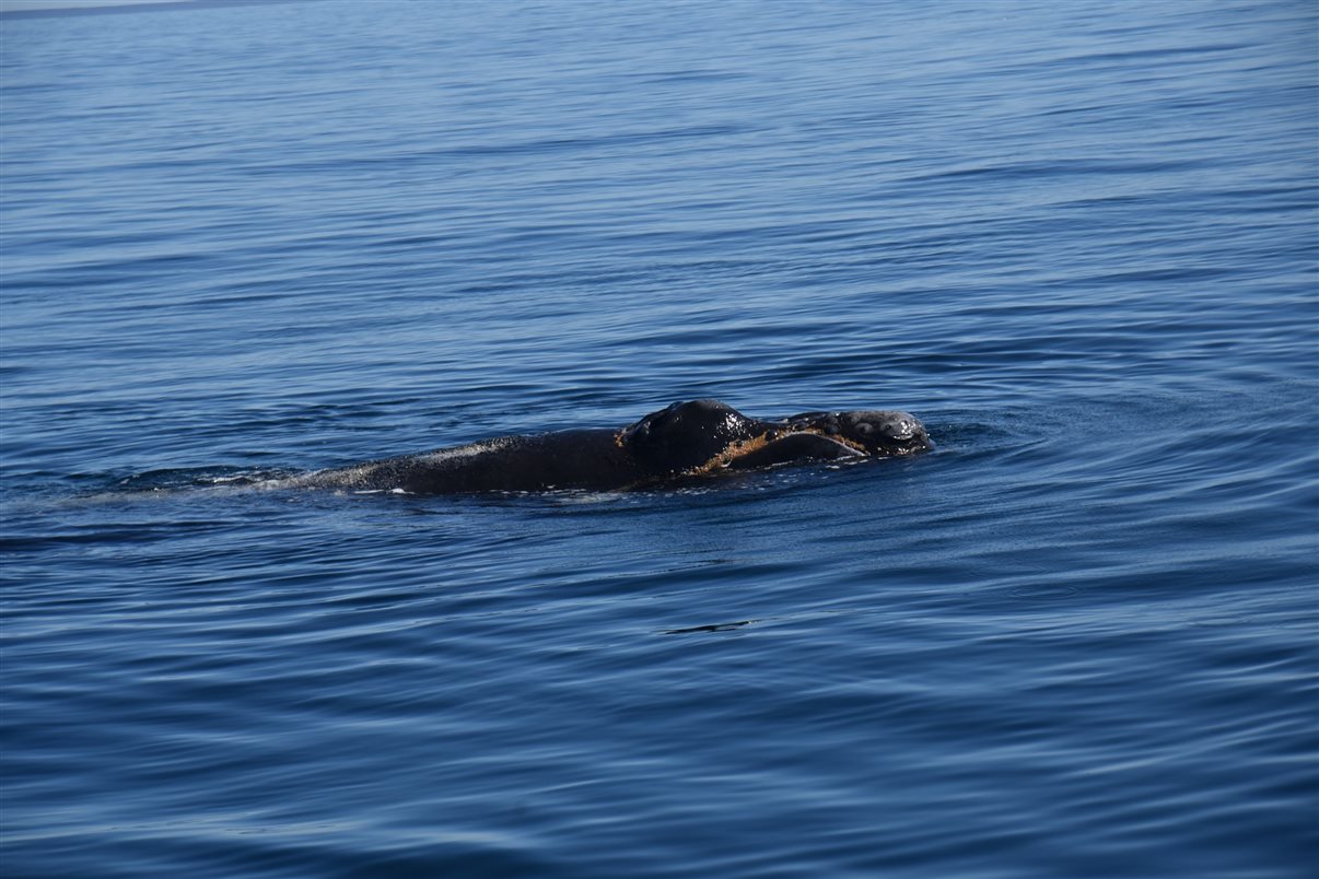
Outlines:
[{"label": "dark whale with orange-patched head surfacing in calm blue water", "polygon": [[625,490],[720,470],[888,457],[930,448],[901,411],[803,412],[748,418],[714,399],[674,403],[621,430],[500,436],[286,480],[299,488],[408,494]]}]

